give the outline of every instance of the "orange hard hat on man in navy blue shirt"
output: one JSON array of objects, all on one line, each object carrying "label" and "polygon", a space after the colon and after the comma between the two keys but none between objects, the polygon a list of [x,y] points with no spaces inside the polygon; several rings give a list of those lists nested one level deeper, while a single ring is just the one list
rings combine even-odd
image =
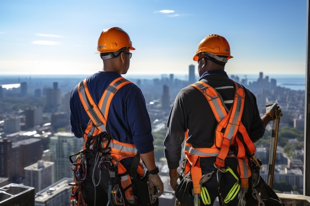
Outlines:
[{"label": "orange hard hat on man in navy blue shirt", "polygon": [[130,41],[129,35],[118,27],[104,29],[98,39],[98,52],[110,53],[118,51],[121,48],[128,47],[129,50],[134,50]]}]

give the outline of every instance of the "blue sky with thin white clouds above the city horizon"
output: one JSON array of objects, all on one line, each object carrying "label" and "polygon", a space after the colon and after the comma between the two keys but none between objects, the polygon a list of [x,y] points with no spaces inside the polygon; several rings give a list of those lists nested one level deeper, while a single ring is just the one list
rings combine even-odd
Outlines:
[{"label": "blue sky with thin white clouds above the city horizon", "polygon": [[199,42],[227,39],[229,74],[305,74],[307,0],[0,0],[0,75],[93,74],[103,29],[136,50],[128,74],[187,74]]}]

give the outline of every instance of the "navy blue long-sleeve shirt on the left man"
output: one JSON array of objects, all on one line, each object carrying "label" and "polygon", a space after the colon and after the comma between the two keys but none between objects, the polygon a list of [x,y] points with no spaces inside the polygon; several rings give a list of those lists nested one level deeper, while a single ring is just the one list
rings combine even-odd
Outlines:
[{"label": "navy blue long-sleeve shirt on the left man", "polygon": [[[98,104],[105,88],[120,77],[116,72],[98,72],[87,79],[92,98]],[[83,132],[90,120],[81,103],[78,86],[70,97],[71,131],[76,137]],[[121,87],[114,95],[107,118],[106,129],[109,135],[120,142],[134,144],[140,154],[154,150],[152,127],[141,89],[134,83]]]}]

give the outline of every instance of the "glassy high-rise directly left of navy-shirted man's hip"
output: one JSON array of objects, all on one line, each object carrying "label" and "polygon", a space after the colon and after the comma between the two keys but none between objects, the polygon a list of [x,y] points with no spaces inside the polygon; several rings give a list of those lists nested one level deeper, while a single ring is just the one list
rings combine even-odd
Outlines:
[{"label": "glassy high-rise directly left of navy-shirted man's hip", "polygon": [[69,156],[83,149],[83,143],[83,138],[76,138],[71,132],[57,132],[51,137],[51,161],[55,163],[53,182],[73,177]]}]

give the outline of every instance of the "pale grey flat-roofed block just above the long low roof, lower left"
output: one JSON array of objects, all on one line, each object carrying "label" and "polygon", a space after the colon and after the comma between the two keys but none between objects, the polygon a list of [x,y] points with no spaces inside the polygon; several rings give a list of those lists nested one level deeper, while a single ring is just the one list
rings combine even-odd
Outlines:
[{"label": "pale grey flat-roofed block just above the long low roof, lower left", "polygon": [[24,185],[34,187],[36,192],[52,185],[53,165],[52,162],[39,160],[35,164],[26,166],[24,168]]}]

